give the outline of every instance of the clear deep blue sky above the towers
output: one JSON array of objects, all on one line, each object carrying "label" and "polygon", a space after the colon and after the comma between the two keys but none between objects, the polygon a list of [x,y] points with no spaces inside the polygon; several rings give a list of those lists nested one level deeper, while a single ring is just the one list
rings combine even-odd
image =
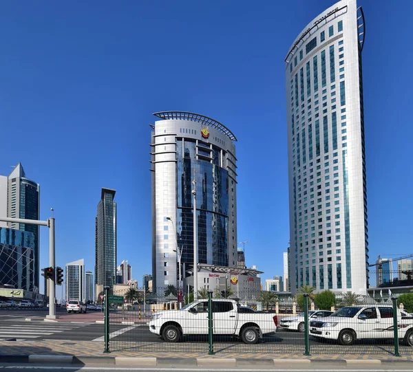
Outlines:
[{"label": "clear deep blue sky above the towers", "polygon": [[[237,136],[238,241],[282,274],[289,240],[284,57],[335,1],[56,1],[0,6],[0,174],[21,162],[56,217],[56,265],[94,270],[100,188],[116,189],[118,263],[151,272],[149,123],[202,113]],[[370,261],[412,252],[412,1],[359,1]],[[41,267],[48,231],[41,229]],[[58,296],[60,289],[57,290]]]}]

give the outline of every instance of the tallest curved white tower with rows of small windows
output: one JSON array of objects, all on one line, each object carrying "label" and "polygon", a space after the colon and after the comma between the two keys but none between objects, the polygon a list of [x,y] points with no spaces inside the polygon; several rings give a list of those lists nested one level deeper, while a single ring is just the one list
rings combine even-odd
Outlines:
[{"label": "tallest curved white tower with rows of small windows", "polygon": [[366,294],[363,10],[326,9],[286,56],[291,290]]}]

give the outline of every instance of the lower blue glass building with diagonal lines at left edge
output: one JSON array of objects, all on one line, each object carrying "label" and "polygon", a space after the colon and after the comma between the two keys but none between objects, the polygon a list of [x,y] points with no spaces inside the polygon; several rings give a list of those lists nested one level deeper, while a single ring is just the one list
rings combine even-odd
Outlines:
[{"label": "lower blue glass building with diagonal lines at left edge", "polygon": [[32,232],[0,228],[0,284],[34,292],[34,248]]}]

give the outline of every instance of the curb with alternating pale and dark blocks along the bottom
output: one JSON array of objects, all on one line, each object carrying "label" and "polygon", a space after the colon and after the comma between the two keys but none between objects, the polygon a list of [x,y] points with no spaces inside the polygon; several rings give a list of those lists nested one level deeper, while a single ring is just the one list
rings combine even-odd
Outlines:
[{"label": "curb with alternating pale and dark blocks along the bottom", "polygon": [[296,364],[301,367],[315,366],[319,363],[340,364],[354,367],[374,366],[379,367],[389,363],[412,364],[412,360],[379,360],[379,359],[253,359],[253,358],[156,358],[156,357],[110,357],[110,356],[78,356],[75,355],[0,355],[0,363],[43,363],[55,364],[106,364],[118,366],[223,366],[223,367],[279,367],[281,364],[288,366]]}]

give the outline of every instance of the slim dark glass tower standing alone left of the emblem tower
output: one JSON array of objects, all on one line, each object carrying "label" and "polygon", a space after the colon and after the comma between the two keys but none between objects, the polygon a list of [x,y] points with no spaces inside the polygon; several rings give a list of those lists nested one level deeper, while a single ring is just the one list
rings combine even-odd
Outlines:
[{"label": "slim dark glass tower standing alone left of the emblem tower", "polygon": [[95,219],[95,297],[116,284],[116,190],[102,188]]}]

